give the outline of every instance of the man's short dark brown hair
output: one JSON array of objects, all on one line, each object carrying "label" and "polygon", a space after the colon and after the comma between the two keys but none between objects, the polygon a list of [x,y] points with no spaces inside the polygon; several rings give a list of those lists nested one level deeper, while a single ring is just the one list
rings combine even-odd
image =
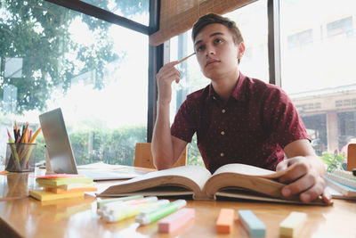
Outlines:
[{"label": "man's short dark brown hair", "polygon": [[194,23],[193,29],[191,30],[191,38],[193,41],[202,29],[204,29],[207,25],[214,23],[223,24],[231,31],[235,45],[239,45],[239,43],[244,42],[244,38],[242,37],[239,28],[236,26],[235,21],[231,21],[229,18],[214,13],[208,13],[201,16],[198,21]]}]

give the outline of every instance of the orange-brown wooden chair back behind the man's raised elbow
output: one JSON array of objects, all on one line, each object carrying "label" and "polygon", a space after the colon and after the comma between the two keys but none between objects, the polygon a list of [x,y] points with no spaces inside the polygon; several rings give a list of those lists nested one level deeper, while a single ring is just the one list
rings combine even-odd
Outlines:
[{"label": "orange-brown wooden chair back behind the man's raised elbow", "polygon": [[[174,167],[187,165],[188,146],[185,147],[179,159],[175,162]],[[136,143],[134,149],[134,167],[155,168],[153,164],[150,143]]]}]

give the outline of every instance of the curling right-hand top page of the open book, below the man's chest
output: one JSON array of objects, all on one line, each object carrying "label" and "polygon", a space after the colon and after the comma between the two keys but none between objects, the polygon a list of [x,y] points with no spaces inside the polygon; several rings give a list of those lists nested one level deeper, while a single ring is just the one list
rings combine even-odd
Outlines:
[{"label": "curling right-hand top page of the open book, below the man's chest", "polygon": [[214,172],[214,175],[222,174],[222,173],[236,173],[240,175],[245,175],[245,176],[261,176],[265,178],[277,178],[279,176],[282,176],[286,174],[288,171],[288,168],[285,170],[281,170],[279,172],[272,171],[269,169],[265,168],[259,168],[247,164],[227,164],[223,165],[222,167],[216,169]]}]

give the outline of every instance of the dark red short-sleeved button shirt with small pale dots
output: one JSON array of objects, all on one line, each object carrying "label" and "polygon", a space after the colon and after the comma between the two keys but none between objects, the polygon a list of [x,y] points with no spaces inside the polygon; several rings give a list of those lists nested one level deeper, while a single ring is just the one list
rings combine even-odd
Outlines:
[{"label": "dark red short-sleeved button shirt with small pale dots", "polygon": [[287,144],[310,140],[283,90],[241,73],[226,103],[211,84],[187,96],[175,115],[171,135],[190,143],[194,133],[212,173],[228,163],[275,170],[284,160]]}]

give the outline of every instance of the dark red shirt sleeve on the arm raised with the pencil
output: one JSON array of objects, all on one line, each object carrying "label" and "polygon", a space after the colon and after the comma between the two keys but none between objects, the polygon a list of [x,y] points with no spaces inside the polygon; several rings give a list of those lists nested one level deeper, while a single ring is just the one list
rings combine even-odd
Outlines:
[{"label": "dark red shirt sleeve on the arm raised with the pencil", "polygon": [[193,103],[189,102],[188,99],[185,100],[174,117],[174,123],[171,127],[171,135],[190,143],[191,138],[197,130],[194,112],[196,112],[196,110],[194,110]]}]

